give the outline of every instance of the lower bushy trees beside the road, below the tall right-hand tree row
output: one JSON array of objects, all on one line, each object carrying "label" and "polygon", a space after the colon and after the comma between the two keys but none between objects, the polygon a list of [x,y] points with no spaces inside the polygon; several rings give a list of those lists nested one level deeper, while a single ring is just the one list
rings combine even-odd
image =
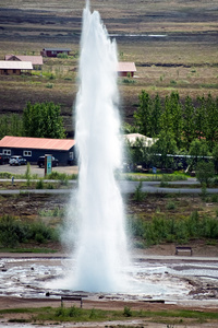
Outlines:
[{"label": "lower bushy trees beside the road, below the tall right-hand tree row", "polygon": [[169,133],[161,133],[152,147],[146,147],[143,139],[136,139],[134,144],[126,141],[125,159],[131,171],[135,169],[136,165],[142,165],[144,168],[155,166],[168,169],[193,171],[202,162],[211,162],[214,168],[210,171],[218,173],[218,144],[210,152],[205,140],[195,139],[191,142],[190,149],[182,153],[178,150],[174,139],[171,139]]}]

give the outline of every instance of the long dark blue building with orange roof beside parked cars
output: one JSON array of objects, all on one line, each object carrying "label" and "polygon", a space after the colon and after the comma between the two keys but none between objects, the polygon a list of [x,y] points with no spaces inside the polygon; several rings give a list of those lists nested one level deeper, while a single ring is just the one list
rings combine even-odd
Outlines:
[{"label": "long dark blue building with orange roof beside parked cars", "polygon": [[21,155],[32,164],[36,164],[39,156],[51,154],[59,164],[66,165],[75,160],[75,140],[5,136],[0,140],[0,153]]}]

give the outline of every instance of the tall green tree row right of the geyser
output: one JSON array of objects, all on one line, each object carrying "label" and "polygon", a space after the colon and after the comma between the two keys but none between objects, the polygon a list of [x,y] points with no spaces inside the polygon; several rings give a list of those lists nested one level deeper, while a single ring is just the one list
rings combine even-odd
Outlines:
[{"label": "tall green tree row right of the geyser", "polygon": [[186,96],[182,102],[178,92],[161,99],[158,94],[152,98],[142,91],[130,129],[152,138],[167,133],[179,150],[185,151],[193,140],[204,139],[211,151],[218,142],[218,97],[208,94],[192,99]]}]

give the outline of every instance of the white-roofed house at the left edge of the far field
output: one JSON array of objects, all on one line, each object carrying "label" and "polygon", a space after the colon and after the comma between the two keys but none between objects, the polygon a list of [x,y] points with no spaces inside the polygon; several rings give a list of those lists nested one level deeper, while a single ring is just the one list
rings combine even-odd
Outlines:
[{"label": "white-roofed house at the left edge of the far field", "polygon": [[20,75],[23,72],[33,70],[31,61],[8,61],[0,60],[0,74]]}]

